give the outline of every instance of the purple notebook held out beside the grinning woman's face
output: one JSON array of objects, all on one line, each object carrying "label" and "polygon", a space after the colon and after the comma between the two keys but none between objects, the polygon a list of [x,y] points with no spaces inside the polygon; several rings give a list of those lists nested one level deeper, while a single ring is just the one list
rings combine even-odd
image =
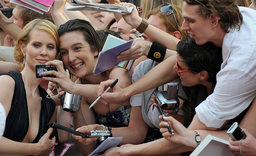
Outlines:
[{"label": "purple notebook held out beside the grinning woman's face", "polygon": [[96,68],[94,75],[104,72],[116,65],[119,62],[116,61],[116,57],[120,55],[121,52],[126,51],[131,48],[133,40],[130,40],[124,44],[118,45],[114,48],[111,48],[107,51],[101,51],[98,56],[98,60],[96,63]]}]

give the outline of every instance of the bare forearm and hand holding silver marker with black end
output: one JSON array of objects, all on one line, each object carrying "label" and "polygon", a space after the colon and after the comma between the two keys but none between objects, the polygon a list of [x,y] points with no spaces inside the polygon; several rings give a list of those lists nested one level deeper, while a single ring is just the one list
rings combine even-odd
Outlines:
[{"label": "bare forearm and hand holding silver marker with black end", "polygon": [[[172,56],[152,68],[147,74],[141,77],[137,82],[131,84],[126,88],[118,88],[114,86],[114,92],[103,93],[103,90],[106,86],[110,85],[113,81],[105,81],[100,84],[98,89],[98,95],[101,95],[102,98],[110,98],[112,100],[121,101],[128,99],[132,95],[139,94],[146,90],[156,88],[168,82],[172,82],[177,79],[177,71],[173,70],[175,65],[176,56]],[[104,101],[102,101],[104,102]]]}]

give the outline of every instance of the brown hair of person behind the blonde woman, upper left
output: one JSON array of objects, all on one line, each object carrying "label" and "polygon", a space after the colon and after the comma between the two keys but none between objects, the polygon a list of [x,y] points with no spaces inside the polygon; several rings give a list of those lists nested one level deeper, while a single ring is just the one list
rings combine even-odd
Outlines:
[{"label": "brown hair of person behind the blonde woman, upper left", "polygon": [[18,9],[20,12],[20,17],[23,20],[23,27],[33,19],[47,19],[53,23],[52,16],[50,13],[49,14],[46,14],[46,13],[41,14],[39,12],[36,12],[34,10],[28,9],[28,8],[20,6],[20,5],[17,5],[15,8]]}]

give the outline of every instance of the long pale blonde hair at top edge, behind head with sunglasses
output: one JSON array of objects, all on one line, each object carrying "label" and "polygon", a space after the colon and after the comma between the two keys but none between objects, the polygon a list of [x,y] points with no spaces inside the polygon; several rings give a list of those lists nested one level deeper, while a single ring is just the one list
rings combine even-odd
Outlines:
[{"label": "long pale blonde hair at top edge, behind head with sunglasses", "polygon": [[175,4],[182,7],[181,0],[141,0],[140,7],[142,7],[143,18],[146,19],[148,17],[148,13],[151,10],[157,8],[159,5],[164,3]]}]

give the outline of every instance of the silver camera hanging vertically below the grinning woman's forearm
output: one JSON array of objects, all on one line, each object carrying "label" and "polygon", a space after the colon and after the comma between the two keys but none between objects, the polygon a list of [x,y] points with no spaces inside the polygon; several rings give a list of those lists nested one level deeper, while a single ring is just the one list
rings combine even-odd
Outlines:
[{"label": "silver camera hanging vertically below the grinning woman's forearm", "polygon": [[77,112],[81,107],[82,96],[77,94],[69,94],[65,92],[60,97],[62,109],[67,112]]}]

